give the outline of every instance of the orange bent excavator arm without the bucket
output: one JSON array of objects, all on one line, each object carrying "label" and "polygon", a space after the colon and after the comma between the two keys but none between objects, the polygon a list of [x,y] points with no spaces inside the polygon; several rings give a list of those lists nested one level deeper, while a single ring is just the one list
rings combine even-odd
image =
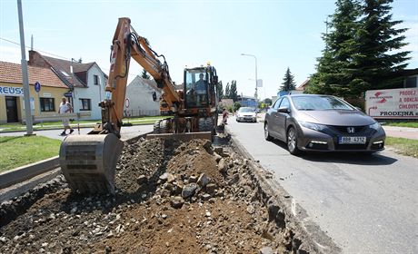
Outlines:
[{"label": "orange bent excavator arm without the bucket", "polygon": [[[104,109],[102,122],[103,124],[112,123],[113,131],[111,132],[118,134],[122,126],[124,98],[131,58],[134,58],[134,61],[143,66],[144,70],[154,77],[157,86],[163,89],[162,104],[165,105],[167,110],[172,112],[179,110],[182,105],[181,98],[176,93],[171,81],[164,55],[156,54],[146,38],[136,34],[129,18],[119,18],[111,50],[111,66],[106,91],[112,94],[112,98],[110,101],[101,103]],[[163,64],[158,57],[164,58]]]}]

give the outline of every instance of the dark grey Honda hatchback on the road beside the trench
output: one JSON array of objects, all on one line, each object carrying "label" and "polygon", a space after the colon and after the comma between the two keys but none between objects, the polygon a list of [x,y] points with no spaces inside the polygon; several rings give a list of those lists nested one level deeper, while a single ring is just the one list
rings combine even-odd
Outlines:
[{"label": "dark grey Honda hatchback on the road beside the trench", "polygon": [[383,151],[386,134],[379,122],[331,95],[280,97],[265,114],[264,137],[300,151]]}]

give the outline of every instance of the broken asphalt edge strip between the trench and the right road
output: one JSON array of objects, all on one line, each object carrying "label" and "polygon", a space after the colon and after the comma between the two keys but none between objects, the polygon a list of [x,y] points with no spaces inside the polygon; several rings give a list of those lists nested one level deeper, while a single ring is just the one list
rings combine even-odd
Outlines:
[{"label": "broken asphalt edge strip between the trench and the right road", "polygon": [[[281,217],[284,214],[284,222],[286,225],[295,232],[301,232],[301,235],[297,233],[294,238],[303,239],[302,245],[305,249],[311,247],[314,249],[314,253],[341,253],[342,249],[339,248],[329,236],[320,229],[320,227],[314,223],[307,214],[306,210],[302,208],[298,203],[294,201],[286,190],[274,180],[272,174],[269,171],[254,161],[254,157],[251,156],[244,146],[236,141],[231,135],[231,141],[245,158],[251,159],[249,164],[253,168],[254,179],[260,185],[258,192],[262,197],[265,205],[275,210],[274,217]],[[269,210],[270,212],[270,210]],[[308,245],[308,246],[306,246]]]}]

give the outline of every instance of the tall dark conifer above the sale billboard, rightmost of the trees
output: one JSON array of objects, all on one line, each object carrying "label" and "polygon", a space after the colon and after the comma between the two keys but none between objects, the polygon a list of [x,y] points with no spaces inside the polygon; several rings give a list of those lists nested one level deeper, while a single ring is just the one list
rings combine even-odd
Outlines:
[{"label": "tall dark conifer above the sale billboard, rightmost of the trees", "polygon": [[[396,73],[402,71],[409,60],[409,51],[403,46],[405,28],[395,28],[402,21],[393,21],[393,0],[364,0],[362,19],[358,31],[358,54],[353,59],[358,66],[353,89],[363,93],[367,89],[393,88],[400,84]],[[395,53],[393,53],[395,51]]]}]

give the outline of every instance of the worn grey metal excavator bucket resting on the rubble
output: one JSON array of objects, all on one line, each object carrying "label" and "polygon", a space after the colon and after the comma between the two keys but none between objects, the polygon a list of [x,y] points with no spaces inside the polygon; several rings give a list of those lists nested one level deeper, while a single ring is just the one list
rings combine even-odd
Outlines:
[{"label": "worn grey metal excavator bucket resting on the rubble", "polygon": [[59,151],[61,170],[72,190],[114,194],[114,170],[124,148],[114,134],[74,135]]}]

